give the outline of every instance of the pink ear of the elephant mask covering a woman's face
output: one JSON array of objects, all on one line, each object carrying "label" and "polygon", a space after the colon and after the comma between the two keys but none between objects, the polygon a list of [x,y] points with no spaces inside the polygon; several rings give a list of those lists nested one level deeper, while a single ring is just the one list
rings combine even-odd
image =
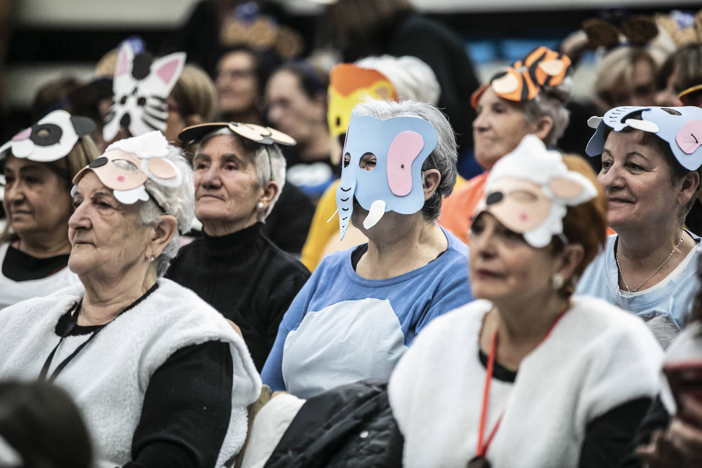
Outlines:
[{"label": "pink ear of the elephant mask covering a woman's face", "polygon": [[412,162],[424,147],[422,135],[404,131],[392,140],[388,150],[388,185],[397,196],[405,196],[412,191]]}]

